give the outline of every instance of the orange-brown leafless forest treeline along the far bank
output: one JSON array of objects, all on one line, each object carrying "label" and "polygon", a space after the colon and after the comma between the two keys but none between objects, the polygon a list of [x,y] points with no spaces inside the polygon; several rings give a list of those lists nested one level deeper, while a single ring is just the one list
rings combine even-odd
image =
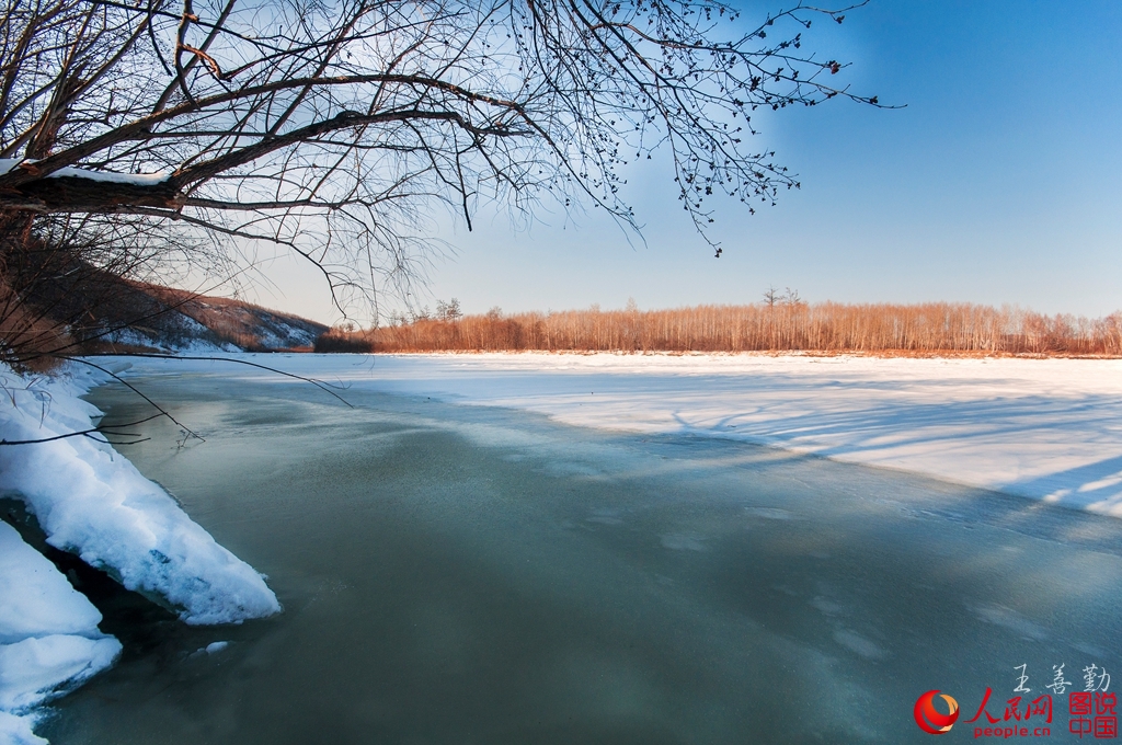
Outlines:
[{"label": "orange-brown leafless forest treeline along the far bank", "polygon": [[[817,351],[1122,355],[1122,312],[1102,319],[969,303],[773,302],[641,311],[427,314],[334,330],[318,351]],[[454,307],[458,307],[456,305]]]}]

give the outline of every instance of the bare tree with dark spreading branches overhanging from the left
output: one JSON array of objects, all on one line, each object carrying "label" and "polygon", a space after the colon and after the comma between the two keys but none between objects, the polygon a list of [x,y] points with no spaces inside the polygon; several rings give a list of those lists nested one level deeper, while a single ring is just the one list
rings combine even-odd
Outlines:
[{"label": "bare tree with dark spreading branches overhanging from the left", "polygon": [[[757,109],[879,105],[802,49],[846,10],[748,28],[693,0],[6,0],[0,279],[68,220],[75,245],[116,231],[84,257],[110,269],[229,270],[270,241],[348,307],[408,289],[441,205],[469,228],[482,202],[543,200],[637,228],[623,167],[656,150],[703,232],[712,194],[798,186],[749,147]],[[174,238],[139,250],[122,226]]]}]

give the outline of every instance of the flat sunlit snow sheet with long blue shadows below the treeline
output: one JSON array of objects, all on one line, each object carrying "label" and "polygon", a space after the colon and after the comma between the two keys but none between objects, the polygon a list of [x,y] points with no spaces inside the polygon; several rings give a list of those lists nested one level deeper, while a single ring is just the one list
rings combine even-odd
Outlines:
[{"label": "flat sunlit snow sheet with long blue shadows below the treeline", "polygon": [[[358,389],[521,408],[580,426],[765,443],[1122,517],[1122,360],[549,353],[245,359]],[[151,360],[137,362],[130,374],[190,370],[268,375],[230,364]]]}]

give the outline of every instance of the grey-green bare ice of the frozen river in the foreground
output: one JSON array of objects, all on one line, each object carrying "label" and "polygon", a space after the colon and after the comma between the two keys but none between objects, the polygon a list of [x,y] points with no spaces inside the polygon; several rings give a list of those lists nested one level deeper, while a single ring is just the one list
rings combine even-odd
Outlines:
[{"label": "grey-green bare ice of the frozen river in the foreground", "polygon": [[[931,689],[969,739],[986,688],[1001,718],[1054,692],[1054,665],[1077,690],[1091,664],[1122,675],[1122,521],[226,372],[131,378],[206,442],[149,423],[119,450],[285,611],[188,627],[100,597],[125,652],[55,705],[56,745],[926,742],[912,710]],[[91,399],[107,421],[149,414],[120,386]],[[1074,742],[1054,698],[1051,742]]]}]

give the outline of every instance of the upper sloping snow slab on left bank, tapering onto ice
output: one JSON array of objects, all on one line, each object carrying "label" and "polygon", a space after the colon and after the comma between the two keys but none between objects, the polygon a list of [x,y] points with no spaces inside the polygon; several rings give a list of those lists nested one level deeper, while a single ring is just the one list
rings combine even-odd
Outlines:
[{"label": "upper sloping snow slab on left bank, tapering onto ice", "polygon": [[[0,406],[4,440],[89,430],[101,415],[77,397],[96,383],[89,374],[26,380],[7,372],[0,379],[9,396]],[[188,624],[240,623],[280,610],[260,574],[92,438],[0,447],[0,490],[27,503],[50,545],[162,599]]]}]

